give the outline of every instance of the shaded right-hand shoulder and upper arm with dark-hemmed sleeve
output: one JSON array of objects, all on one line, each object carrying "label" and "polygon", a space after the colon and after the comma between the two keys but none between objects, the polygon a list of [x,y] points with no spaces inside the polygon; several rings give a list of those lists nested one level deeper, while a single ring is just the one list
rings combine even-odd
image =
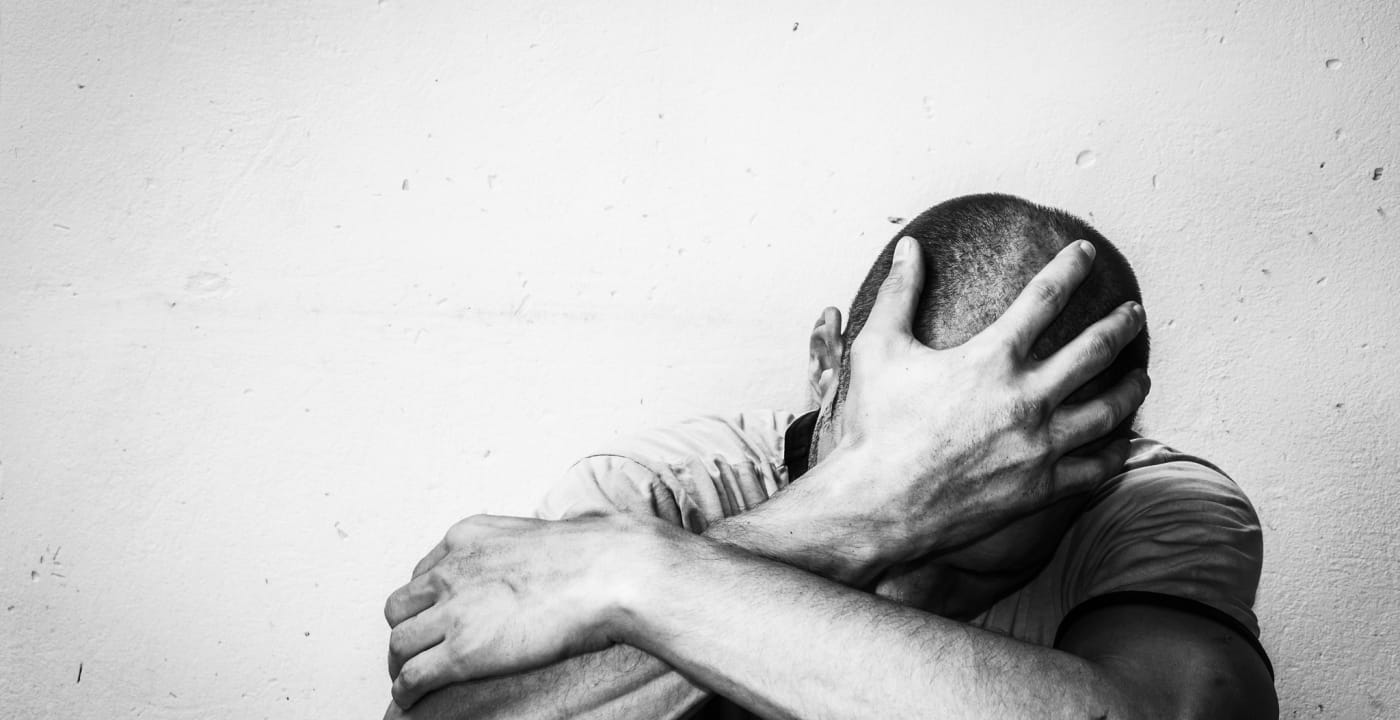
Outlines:
[{"label": "shaded right-hand shoulder and upper arm with dark-hemmed sleeve", "polygon": [[[1067,538],[1074,548],[1053,646],[1117,667],[1175,712],[1278,714],[1259,640],[1259,515],[1215,465],[1138,438]],[[1064,548],[1061,548],[1064,549]]]}]

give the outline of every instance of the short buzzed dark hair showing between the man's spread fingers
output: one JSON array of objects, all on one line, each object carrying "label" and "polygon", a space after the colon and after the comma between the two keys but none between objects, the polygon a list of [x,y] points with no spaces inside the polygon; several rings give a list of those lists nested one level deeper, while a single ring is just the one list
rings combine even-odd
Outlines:
[{"label": "short buzzed dark hair showing between the man's spread fingers", "polygon": [[[1060,317],[1032,346],[1033,357],[1054,354],[1123,303],[1142,301],[1127,259],[1084,220],[1011,195],[955,198],[930,207],[904,226],[865,275],[847,314],[846,357],[841,359],[837,391],[840,403],[844,403],[850,385],[851,343],[865,326],[875,294],[889,275],[895,244],[906,235],[918,241],[924,256],[924,287],[914,315],[914,336],[934,349],[962,345],[991,325],[1026,283],[1061,248],[1077,240],[1093,244],[1093,266]],[[1144,326],[1099,378],[1112,384],[1131,370],[1147,368],[1148,349]],[[1113,434],[1124,434],[1131,424],[1133,417],[1128,417]]]}]

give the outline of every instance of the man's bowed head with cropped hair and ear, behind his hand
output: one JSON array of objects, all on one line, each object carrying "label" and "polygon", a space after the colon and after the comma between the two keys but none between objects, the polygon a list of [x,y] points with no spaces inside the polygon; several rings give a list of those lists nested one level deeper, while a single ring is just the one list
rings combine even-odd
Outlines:
[{"label": "man's bowed head with cropped hair and ear, behind his hand", "polygon": [[[910,221],[875,259],[851,301],[846,331],[841,332],[834,311],[825,312],[812,331],[811,381],[822,405],[812,436],[812,464],[820,462],[840,441],[841,409],[850,384],[850,347],[865,326],[875,294],[889,273],[895,241],[906,235],[918,241],[925,268],[914,336],[934,349],[962,345],[991,325],[1026,283],[1075,240],[1093,244],[1098,251],[1093,268],[1033,346],[1036,359],[1049,357],[1120,304],[1142,300],[1137,277],[1123,255],[1078,217],[1009,195],[969,195],[937,205]],[[1147,361],[1148,335],[1144,329],[1107,370],[1071,395],[1068,402],[1110,387],[1128,371],[1145,368]],[[928,398],[928,402],[935,403],[938,398]],[[1128,417],[1113,437],[1128,433],[1131,424],[1133,417]],[[1043,542],[1043,535],[1053,531],[1058,541],[1072,518],[1067,508],[1050,508],[1053,511],[1025,518],[1005,532],[966,548],[960,553],[963,558],[949,560],[1018,570],[1001,566],[1009,565],[1011,558],[1026,558],[1021,545],[1028,542],[1039,539],[1039,546],[1053,548],[1053,542]]]}]

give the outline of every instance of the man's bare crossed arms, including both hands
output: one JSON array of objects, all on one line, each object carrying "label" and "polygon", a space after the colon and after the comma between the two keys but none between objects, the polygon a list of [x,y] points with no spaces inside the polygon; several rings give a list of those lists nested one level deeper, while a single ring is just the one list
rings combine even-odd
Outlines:
[{"label": "man's bare crossed arms, including both hands", "polygon": [[[1121,447],[1065,452],[1147,391],[1128,378],[1060,405],[1137,332],[1134,308],[1025,359],[1089,254],[1067,249],[945,353],[906,340],[917,255],[896,259],[853,349],[851,420],[827,461],[706,536],[636,517],[459,522],[386,605],[396,702],[416,717],[683,717],[708,688],[767,717],[1277,714],[1260,658],[1196,615],[1103,608],[1051,650],[843,586],[1112,473]],[[931,394],[942,415],[903,401]]]}]

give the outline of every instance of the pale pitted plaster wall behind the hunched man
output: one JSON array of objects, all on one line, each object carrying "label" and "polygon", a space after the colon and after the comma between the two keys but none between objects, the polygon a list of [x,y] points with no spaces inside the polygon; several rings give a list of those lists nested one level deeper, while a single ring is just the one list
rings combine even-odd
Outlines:
[{"label": "pale pitted plaster wall behind the hunched man", "polygon": [[375,716],[451,521],[988,189],[1135,262],[1284,717],[1400,716],[1400,6],[659,6],[0,0],[0,716]]}]

